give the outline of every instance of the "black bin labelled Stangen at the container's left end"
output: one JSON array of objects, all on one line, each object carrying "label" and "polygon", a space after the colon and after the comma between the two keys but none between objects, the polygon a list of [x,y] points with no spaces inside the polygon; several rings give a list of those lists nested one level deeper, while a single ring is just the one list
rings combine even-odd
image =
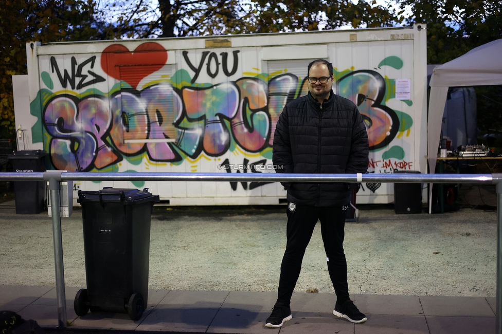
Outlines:
[{"label": "black bin labelled Stangen at the container's left end", "polygon": [[[12,170],[16,173],[45,172],[42,150],[17,151],[9,155]],[[44,209],[44,181],[14,181],[16,214],[37,214]]]}]

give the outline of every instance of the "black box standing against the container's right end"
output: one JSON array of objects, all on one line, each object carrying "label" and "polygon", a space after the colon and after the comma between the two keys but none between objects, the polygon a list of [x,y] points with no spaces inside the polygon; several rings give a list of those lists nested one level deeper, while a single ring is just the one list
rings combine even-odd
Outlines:
[{"label": "black box standing against the container's right end", "polygon": [[[419,171],[395,171],[414,173]],[[394,211],[396,213],[422,213],[422,183],[394,183]]]}]

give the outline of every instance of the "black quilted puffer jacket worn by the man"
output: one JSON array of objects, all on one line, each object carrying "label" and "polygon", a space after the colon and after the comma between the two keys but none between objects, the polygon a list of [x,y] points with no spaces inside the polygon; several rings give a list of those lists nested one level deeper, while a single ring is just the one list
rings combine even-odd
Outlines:
[{"label": "black quilted puffer jacket worn by the man", "polygon": [[[310,92],[291,101],[277,121],[272,160],[277,173],[365,173],[368,135],[356,105],[333,92],[322,105]],[[283,185],[288,201],[316,207],[345,205],[352,188],[347,183]]]}]

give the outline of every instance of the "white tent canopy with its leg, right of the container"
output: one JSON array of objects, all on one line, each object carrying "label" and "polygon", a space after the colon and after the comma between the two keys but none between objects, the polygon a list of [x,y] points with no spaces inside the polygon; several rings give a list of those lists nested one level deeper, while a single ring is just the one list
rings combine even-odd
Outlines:
[{"label": "white tent canopy with its leg, right of the container", "polygon": [[[450,62],[436,66],[429,85],[427,156],[429,171],[434,173],[448,88],[502,85],[502,39],[478,46]],[[430,194],[432,196],[432,192]]]}]

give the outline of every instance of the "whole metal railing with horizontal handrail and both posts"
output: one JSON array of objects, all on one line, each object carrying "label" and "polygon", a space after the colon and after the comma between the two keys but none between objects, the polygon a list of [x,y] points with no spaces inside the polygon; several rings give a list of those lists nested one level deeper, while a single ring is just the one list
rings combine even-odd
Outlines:
[{"label": "whole metal railing with horizontal handrail and both posts", "polygon": [[280,174],[280,173],[73,173],[47,171],[0,173],[6,181],[49,181],[52,234],[56,265],[58,324],[66,327],[63,243],[60,216],[62,181],[259,181],[259,182],[382,182],[382,183],[489,183],[497,185],[497,282],[495,332],[502,334],[502,174]]}]

